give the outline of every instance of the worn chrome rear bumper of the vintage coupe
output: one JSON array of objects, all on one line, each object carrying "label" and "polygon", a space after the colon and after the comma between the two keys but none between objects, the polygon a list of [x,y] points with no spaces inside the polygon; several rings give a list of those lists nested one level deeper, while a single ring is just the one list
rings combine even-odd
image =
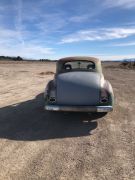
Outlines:
[{"label": "worn chrome rear bumper of the vintage coupe", "polygon": [[110,112],[112,106],[62,106],[62,105],[45,105],[48,111],[71,111],[71,112]]}]

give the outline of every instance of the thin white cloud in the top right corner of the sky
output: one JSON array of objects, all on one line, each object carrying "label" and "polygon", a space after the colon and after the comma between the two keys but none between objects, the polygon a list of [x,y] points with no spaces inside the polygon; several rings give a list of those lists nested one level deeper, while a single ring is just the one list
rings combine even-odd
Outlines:
[{"label": "thin white cloud in the top right corner of the sky", "polygon": [[135,7],[135,0],[105,0],[104,1],[105,7],[121,7],[124,9],[133,9]]}]

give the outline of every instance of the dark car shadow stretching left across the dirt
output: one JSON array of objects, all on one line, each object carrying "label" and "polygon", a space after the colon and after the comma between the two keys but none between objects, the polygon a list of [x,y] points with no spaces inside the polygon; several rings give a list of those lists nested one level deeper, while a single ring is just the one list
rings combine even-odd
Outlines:
[{"label": "dark car shadow stretching left across the dirt", "polygon": [[[0,108],[0,138],[36,141],[88,136],[100,118],[87,113],[47,112],[43,94],[35,99]],[[102,115],[101,115],[102,116]]]}]

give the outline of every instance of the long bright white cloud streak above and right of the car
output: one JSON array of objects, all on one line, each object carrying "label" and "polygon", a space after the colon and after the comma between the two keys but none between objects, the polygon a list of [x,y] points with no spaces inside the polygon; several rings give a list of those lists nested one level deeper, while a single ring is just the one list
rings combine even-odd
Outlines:
[{"label": "long bright white cloud streak above and right of the car", "polygon": [[96,30],[81,30],[62,38],[61,44],[79,41],[104,41],[127,38],[135,35],[135,28],[99,28]]}]

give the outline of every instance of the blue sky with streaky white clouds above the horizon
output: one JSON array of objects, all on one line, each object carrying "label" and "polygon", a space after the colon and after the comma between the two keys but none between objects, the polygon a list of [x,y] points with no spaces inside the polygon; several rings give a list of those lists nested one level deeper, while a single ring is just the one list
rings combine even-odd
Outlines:
[{"label": "blue sky with streaky white clouds above the horizon", "polygon": [[0,55],[135,58],[135,0],[0,0]]}]

